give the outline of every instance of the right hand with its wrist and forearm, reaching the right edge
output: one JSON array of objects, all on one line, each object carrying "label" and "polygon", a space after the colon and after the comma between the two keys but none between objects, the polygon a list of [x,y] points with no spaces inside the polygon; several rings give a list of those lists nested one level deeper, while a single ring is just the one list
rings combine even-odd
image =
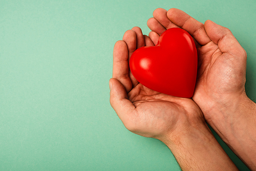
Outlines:
[{"label": "right hand with its wrist and forearm, reaching the right edge", "polygon": [[202,24],[178,9],[159,8],[153,16],[147,22],[153,42],[173,27],[194,37],[199,67],[192,99],[232,151],[256,170],[256,104],[245,93],[245,50],[229,29],[210,20]]}]

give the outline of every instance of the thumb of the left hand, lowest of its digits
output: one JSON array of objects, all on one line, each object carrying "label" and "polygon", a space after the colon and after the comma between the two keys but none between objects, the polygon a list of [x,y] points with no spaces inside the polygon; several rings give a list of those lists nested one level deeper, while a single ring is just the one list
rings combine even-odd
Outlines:
[{"label": "thumb of the left hand, lowest of its digits", "polygon": [[131,130],[132,117],[136,114],[135,106],[127,99],[127,93],[121,82],[117,79],[110,79],[110,104],[124,126]]}]

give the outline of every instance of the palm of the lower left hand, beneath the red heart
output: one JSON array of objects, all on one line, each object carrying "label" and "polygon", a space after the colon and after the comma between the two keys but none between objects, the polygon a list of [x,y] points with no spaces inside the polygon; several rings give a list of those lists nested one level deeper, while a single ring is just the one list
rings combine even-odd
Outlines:
[{"label": "palm of the lower left hand, beneath the red heart", "polygon": [[185,118],[203,118],[193,100],[162,94],[140,83],[127,96],[136,107],[134,122],[140,124],[139,131],[130,131],[144,137],[173,132],[178,125],[186,122]]}]

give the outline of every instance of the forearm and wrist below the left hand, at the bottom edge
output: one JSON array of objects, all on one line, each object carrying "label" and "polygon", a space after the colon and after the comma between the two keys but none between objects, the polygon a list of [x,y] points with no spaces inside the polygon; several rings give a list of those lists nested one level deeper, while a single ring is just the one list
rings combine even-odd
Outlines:
[{"label": "forearm and wrist below the left hand, at the bottom edge", "polygon": [[237,170],[206,123],[173,132],[163,141],[182,170]]}]

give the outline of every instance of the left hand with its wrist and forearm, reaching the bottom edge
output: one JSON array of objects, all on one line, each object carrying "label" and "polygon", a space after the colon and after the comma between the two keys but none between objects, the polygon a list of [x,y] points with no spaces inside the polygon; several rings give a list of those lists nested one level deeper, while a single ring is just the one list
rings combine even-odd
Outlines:
[{"label": "left hand with its wrist and forearm, reaching the bottom edge", "polygon": [[[202,111],[190,98],[169,96],[140,84],[129,70],[132,53],[154,46],[150,37],[135,27],[116,42],[110,103],[131,132],[159,139],[176,157],[182,170],[237,170],[210,132]],[[158,35],[159,36],[159,35]]]}]

